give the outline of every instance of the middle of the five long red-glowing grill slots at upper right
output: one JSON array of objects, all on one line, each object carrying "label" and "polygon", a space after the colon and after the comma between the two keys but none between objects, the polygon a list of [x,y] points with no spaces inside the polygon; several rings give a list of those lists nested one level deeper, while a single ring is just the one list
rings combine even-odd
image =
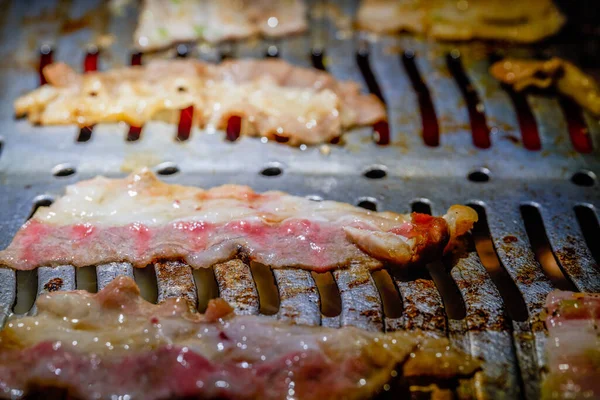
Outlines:
[{"label": "middle of the five long red-glowing grill slots at upper right", "polygon": [[460,53],[453,50],[446,56],[446,64],[448,65],[450,73],[454,76],[454,80],[458,84],[465,102],[467,103],[469,120],[471,121],[473,144],[480,149],[487,149],[491,146],[490,129],[485,120],[483,103],[465,72]]}]

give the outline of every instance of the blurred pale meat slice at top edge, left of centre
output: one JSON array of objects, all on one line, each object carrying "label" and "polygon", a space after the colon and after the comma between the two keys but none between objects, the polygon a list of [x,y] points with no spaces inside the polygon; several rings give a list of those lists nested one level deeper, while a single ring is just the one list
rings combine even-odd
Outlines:
[{"label": "blurred pale meat slice at top edge, left of centre", "polygon": [[176,42],[279,37],[306,27],[303,0],[143,0],[134,42],[156,50]]}]

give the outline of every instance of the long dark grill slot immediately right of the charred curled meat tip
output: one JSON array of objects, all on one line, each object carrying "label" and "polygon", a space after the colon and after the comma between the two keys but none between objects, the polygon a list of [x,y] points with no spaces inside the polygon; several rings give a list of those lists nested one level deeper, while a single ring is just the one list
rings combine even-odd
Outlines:
[{"label": "long dark grill slot immediately right of the charred curled meat tip", "polygon": [[[477,204],[469,204],[469,206],[479,215],[479,220],[473,227],[472,237],[481,263],[498,288],[510,319],[519,322],[527,321],[528,312],[525,300],[496,254],[484,208]],[[517,240],[519,239],[517,238]]]}]

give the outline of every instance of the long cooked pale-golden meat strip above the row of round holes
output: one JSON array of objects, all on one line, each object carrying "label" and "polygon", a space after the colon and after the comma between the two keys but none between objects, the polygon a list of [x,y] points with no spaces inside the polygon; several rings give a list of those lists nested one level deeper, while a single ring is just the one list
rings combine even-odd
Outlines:
[{"label": "long cooked pale-golden meat strip above the row of round holes", "polygon": [[225,129],[231,116],[244,120],[242,134],[326,143],[344,130],[386,120],[385,107],[354,82],[282,60],[161,60],[145,66],[78,74],[58,63],[44,69],[48,84],[15,101],[32,123],[78,124],[151,119],[177,122],[194,106],[194,124]]}]

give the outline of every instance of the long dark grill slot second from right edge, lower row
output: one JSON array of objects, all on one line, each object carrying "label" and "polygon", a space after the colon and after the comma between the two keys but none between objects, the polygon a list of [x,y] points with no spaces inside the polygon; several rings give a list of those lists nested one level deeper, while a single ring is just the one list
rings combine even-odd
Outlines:
[{"label": "long dark grill slot second from right edge, lower row", "polygon": [[566,277],[558,259],[552,252],[544,222],[537,207],[528,204],[522,205],[521,217],[535,258],[542,266],[544,274],[557,289],[576,291],[575,285]]}]

